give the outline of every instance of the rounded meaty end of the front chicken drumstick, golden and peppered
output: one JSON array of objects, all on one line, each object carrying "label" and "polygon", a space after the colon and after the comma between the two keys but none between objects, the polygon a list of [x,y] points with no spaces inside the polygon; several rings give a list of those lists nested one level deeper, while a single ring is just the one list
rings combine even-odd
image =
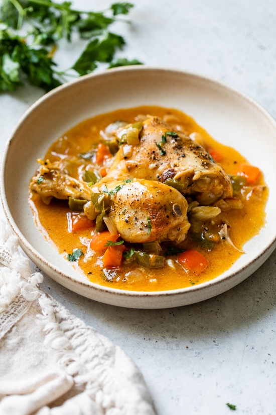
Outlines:
[{"label": "rounded meaty end of the front chicken drumstick, golden and peppered", "polygon": [[[190,227],[188,203],[176,189],[163,183],[134,179],[109,182],[111,207],[107,216],[127,242],[158,240],[182,242]],[[112,190],[119,189],[112,194]],[[98,188],[101,192],[104,185]]]}]

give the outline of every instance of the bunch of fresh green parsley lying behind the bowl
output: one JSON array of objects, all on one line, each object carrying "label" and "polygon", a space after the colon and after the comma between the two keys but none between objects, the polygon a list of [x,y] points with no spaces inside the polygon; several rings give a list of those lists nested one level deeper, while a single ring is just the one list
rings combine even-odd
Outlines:
[{"label": "bunch of fresh green parsley lying behind the bowl", "polygon": [[[50,91],[66,81],[72,69],[78,76],[102,62],[109,68],[141,64],[136,59],[114,60],[125,41],[109,26],[118,15],[128,14],[130,3],[114,3],[102,12],[75,10],[67,1],[0,0],[0,5],[0,91],[14,91],[26,80]],[[86,47],[69,69],[57,71],[54,53],[61,39],[71,42],[73,33],[87,41]]]}]

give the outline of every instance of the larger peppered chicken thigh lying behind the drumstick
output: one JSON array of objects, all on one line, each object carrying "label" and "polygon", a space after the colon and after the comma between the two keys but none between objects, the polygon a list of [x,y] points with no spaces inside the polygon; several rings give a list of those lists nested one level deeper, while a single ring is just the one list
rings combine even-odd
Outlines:
[{"label": "larger peppered chicken thigh lying behind the drumstick", "polygon": [[[196,195],[202,205],[232,197],[231,181],[220,165],[186,134],[166,135],[172,131],[161,118],[149,116],[143,122],[139,144],[120,146],[103,181],[147,178],[164,183],[174,179],[181,182],[183,195]],[[166,141],[162,141],[165,135]]]}]

